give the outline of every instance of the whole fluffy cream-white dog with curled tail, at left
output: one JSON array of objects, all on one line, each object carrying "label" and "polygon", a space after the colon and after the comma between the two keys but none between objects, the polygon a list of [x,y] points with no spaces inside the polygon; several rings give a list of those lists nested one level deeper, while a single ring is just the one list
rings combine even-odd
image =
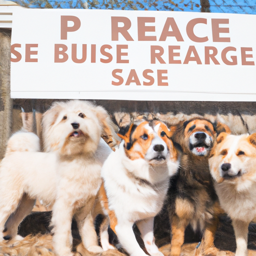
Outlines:
[{"label": "whole fluffy cream-white dog with curled tail, at left", "polygon": [[102,162],[111,152],[100,137],[108,118],[104,108],[87,101],[55,102],[42,119],[46,152],[39,152],[39,138],[33,133],[17,132],[10,137],[0,163],[0,238],[5,221],[17,207],[14,229],[30,211],[23,201],[33,200],[24,199],[26,194],[53,203],[57,255],[72,255],[73,215],[85,248],[101,250],[90,211],[101,183]]}]

